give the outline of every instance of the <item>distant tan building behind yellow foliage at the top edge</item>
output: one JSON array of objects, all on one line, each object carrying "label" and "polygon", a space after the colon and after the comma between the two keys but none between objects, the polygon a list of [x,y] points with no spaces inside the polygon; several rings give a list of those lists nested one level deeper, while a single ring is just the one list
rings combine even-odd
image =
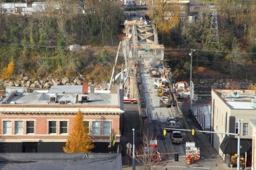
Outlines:
[{"label": "distant tan building behind yellow foliage at the top edge", "polygon": [[189,15],[189,0],[168,0],[166,1],[168,5],[168,11],[166,11],[165,19],[169,21],[174,21],[179,19],[179,22],[187,21],[187,16]]}]

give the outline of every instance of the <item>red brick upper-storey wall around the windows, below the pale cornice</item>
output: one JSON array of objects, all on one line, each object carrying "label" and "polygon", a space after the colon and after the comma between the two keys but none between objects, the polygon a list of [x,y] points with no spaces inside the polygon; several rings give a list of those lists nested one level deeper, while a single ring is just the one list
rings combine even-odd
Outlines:
[{"label": "red brick upper-storey wall around the windows, below the pale cornice", "polygon": [[[59,132],[59,121],[68,121],[68,133],[71,132],[73,128],[74,114],[0,114],[0,135],[1,139],[28,139],[28,138],[39,138],[40,139],[65,139],[67,135],[58,134]],[[49,134],[49,120],[57,121],[57,134]],[[12,121],[12,135],[3,135],[3,120]],[[15,121],[24,121],[24,134],[15,134]],[[26,134],[26,121],[34,120],[34,134]],[[112,122],[112,134],[119,134],[120,127],[120,116],[117,114],[86,114],[84,115],[84,120],[90,121],[90,132],[92,132],[92,121],[98,120],[110,120]],[[38,136],[39,134],[42,134]],[[92,138],[96,139],[108,139],[109,136],[94,136]]]}]

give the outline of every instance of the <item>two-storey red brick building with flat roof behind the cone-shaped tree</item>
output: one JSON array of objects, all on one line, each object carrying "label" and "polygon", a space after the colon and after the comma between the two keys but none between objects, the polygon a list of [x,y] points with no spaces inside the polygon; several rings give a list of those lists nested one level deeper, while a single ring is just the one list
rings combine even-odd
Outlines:
[{"label": "two-storey red brick building with flat roof behind the cone-shaped tree", "polygon": [[108,152],[110,136],[119,143],[123,93],[118,86],[95,91],[83,85],[52,86],[42,93],[12,91],[0,103],[0,152],[63,152],[75,114],[81,110],[94,145],[93,152]]}]

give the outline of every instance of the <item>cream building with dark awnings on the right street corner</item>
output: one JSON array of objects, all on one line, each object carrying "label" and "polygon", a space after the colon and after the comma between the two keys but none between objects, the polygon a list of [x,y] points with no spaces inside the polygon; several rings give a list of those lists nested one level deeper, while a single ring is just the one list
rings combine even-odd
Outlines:
[{"label": "cream building with dark awnings on the right street corner", "polygon": [[[255,118],[256,90],[212,89],[211,130],[214,132],[238,133],[241,120],[241,157],[250,166],[253,128],[249,121]],[[236,164],[237,135],[211,134],[211,144],[226,163]]]}]

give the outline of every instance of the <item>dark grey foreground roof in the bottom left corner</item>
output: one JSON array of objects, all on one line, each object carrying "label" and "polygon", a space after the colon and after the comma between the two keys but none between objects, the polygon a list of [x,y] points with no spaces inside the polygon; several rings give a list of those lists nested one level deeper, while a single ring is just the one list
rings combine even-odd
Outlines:
[{"label": "dark grey foreground roof in the bottom left corner", "polygon": [[122,169],[118,153],[1,153],[1,169]]}]

